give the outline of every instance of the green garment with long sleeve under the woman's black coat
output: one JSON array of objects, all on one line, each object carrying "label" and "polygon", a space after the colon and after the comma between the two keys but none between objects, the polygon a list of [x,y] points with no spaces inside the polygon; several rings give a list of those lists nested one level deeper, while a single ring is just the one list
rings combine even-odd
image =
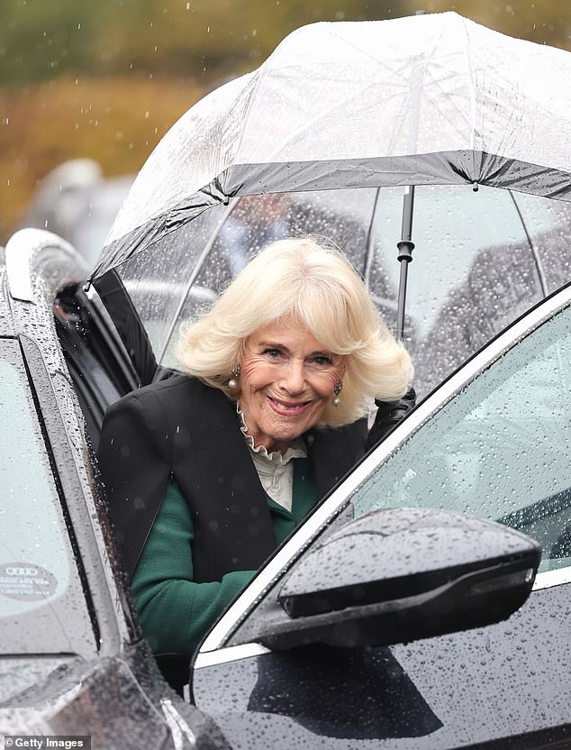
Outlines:
[{"label": "green garment with long sleeve under the woman's black coat", "polygon": [[[291,512],[267,496],[276,545],[315,505],[317,491],[309,459],[293,459]],[[192,654],[207,630],[256,571],[226,573],[222,581],[193,581],[193,519],[173,480],[131,582],[140,624],[155,654]]]}]

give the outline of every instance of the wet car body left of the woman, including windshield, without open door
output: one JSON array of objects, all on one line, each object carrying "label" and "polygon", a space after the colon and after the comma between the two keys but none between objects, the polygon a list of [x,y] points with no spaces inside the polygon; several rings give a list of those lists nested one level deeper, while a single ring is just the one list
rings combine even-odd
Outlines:
[{"label": "wet car body left of the woman, including windshield, without open door", "polygon": [[[28,230],[0,250],[3,746],[36,746],[14,735],[57,735],[117,750],[226,747],[213,721],[169,689],[134,621],[56,335],[54,300],[86,268],[51,237]],[[92,360],[93,380],[117,398],[129,371],[99,353],[114,380]]]}]

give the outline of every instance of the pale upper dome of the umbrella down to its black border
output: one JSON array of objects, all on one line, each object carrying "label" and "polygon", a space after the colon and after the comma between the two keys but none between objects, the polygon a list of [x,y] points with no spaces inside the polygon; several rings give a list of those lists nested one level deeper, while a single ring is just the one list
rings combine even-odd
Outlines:
[{"label": "pale upper dome of the umbrella down to its black border", "polygon": [[315,23],[151,154],[94,277],[230,197],[472,183],[571,199],[571,55],[455,13]]}]

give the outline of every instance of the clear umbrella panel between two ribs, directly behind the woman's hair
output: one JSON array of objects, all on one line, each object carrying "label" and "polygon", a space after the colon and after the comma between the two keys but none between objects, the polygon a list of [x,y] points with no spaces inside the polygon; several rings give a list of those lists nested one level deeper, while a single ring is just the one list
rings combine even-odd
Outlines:
[{"label": "clear umbrella panel between two ribs, directly behind the woman's hair", "polygon": [[[363,273],[375,197],[374,189],[358,189],[240,198],[225,217],[177,323],[194,318],[212,303],[261,248],[292,235],[312,233],[335,242]],[[177,367],[177,336],[178,325],[161,362],[167,367]]]}]

